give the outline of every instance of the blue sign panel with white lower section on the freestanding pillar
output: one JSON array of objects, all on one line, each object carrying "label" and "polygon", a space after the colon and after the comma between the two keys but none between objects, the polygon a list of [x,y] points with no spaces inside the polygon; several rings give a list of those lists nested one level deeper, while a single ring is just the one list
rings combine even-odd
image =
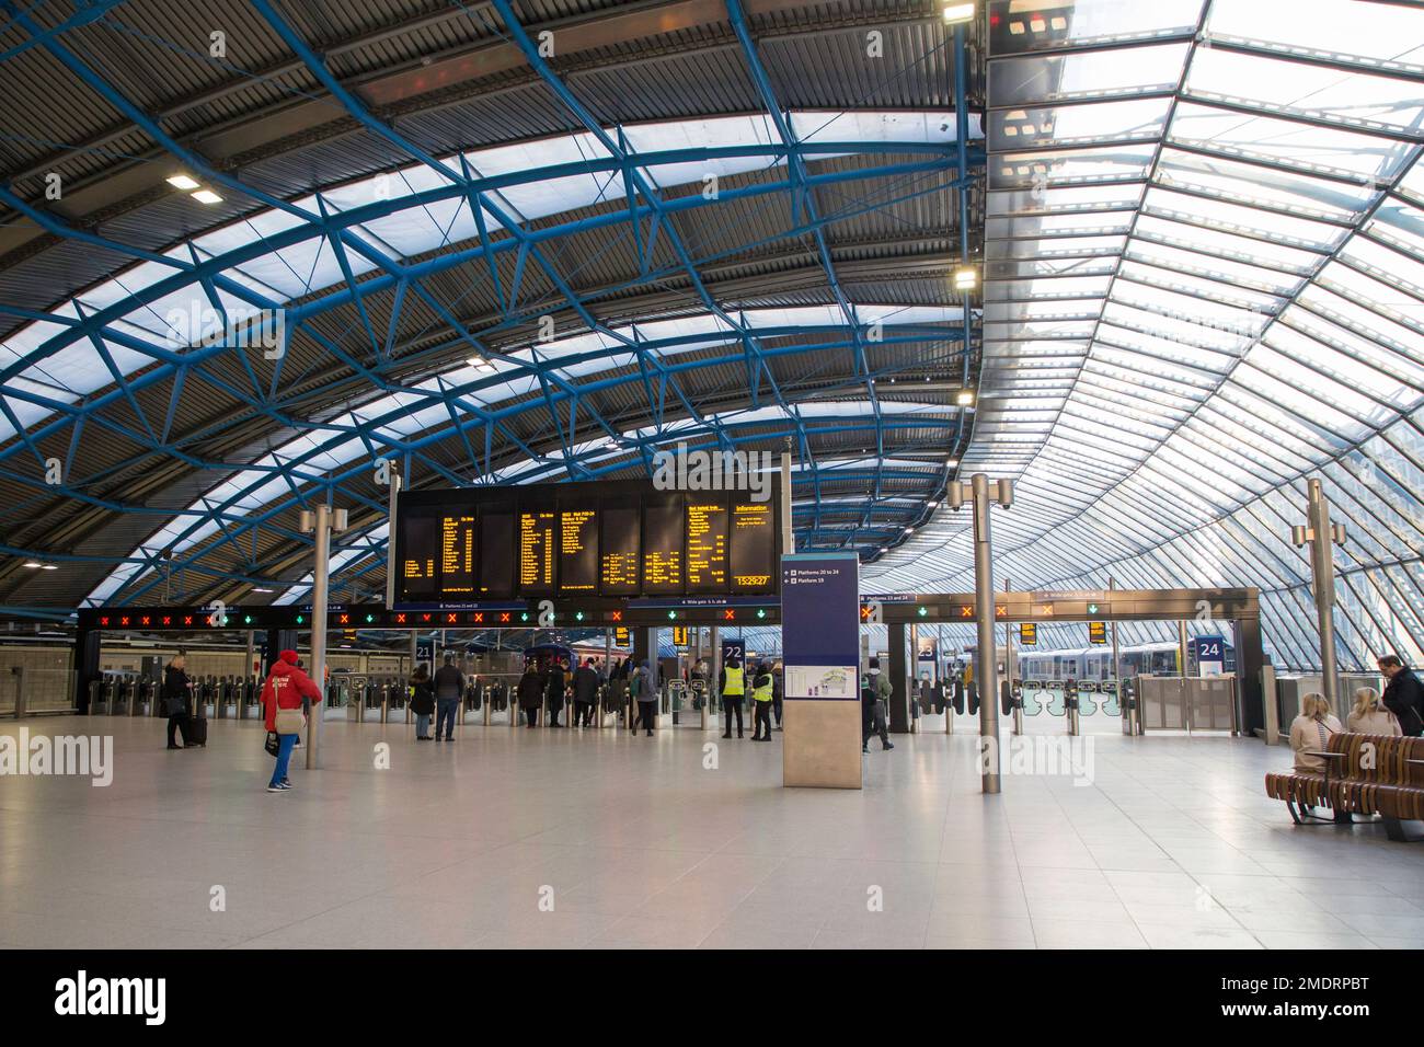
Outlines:
[{"label": "blue sign panel with white lower section on the freestanding pillar", "polygon": [[782,557],[786,698],[860,699],[860,558],[854,553]]}]

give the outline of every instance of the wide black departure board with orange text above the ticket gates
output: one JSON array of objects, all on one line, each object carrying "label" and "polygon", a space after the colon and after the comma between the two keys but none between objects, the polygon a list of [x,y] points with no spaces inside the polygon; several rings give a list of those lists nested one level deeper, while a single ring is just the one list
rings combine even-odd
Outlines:
[{"label": "wide black departure board with orange text above the ticket gates", "polygon": [[775,597],[780,497],[646,480],[402,491],[396,603]]}]

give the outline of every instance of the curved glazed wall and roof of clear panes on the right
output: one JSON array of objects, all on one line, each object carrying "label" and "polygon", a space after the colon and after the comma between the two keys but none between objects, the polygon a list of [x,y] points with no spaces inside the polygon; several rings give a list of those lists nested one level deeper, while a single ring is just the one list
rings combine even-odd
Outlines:
[{"label": "curved glazed wall and roof of clear panes on the right", "polygon": [[[1259,585],[1276,661],[1317,665],[1290,527],[1319,477],[1349,530],[1341,664],[1418,661],[1424,11],[1038,9],[991,4],[985,348],[961,473],[1017,480],[998,577]],[[940,510],[874,585],[973,588],[965,526]]]}]

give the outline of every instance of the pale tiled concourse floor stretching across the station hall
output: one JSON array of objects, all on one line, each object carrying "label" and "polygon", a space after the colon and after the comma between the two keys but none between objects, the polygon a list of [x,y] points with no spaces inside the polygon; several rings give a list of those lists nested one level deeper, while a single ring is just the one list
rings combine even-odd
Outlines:
[{"label": "pale tiled concourse floor stretching across the station hall", "polygon": [[780,735],[328,724],[271,795],[252,724],[28,726],[111,732],[115,773],[0,778],[6,946],[1424,946],[1424,848],[1293,828],[1253,741],[1095,738],[1092,785],[983,796],[967,734],[871,744],[832,792],[780,788]]}]

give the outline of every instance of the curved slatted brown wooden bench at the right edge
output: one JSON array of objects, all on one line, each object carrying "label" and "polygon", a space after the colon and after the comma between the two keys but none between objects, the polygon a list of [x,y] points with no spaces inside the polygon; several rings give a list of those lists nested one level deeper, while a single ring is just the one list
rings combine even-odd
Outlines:
[{"label": "curved slatted brown wooden bench at the right edge", "polygon": [[1284,801],[1296,825],[1309,808],[1380,815],[1391,840],[1407,840],[1401,822],[1424,821],[1424,738],[1341,732],[1319,754],[1324,771],[1266,775],[1266,795]]}]

